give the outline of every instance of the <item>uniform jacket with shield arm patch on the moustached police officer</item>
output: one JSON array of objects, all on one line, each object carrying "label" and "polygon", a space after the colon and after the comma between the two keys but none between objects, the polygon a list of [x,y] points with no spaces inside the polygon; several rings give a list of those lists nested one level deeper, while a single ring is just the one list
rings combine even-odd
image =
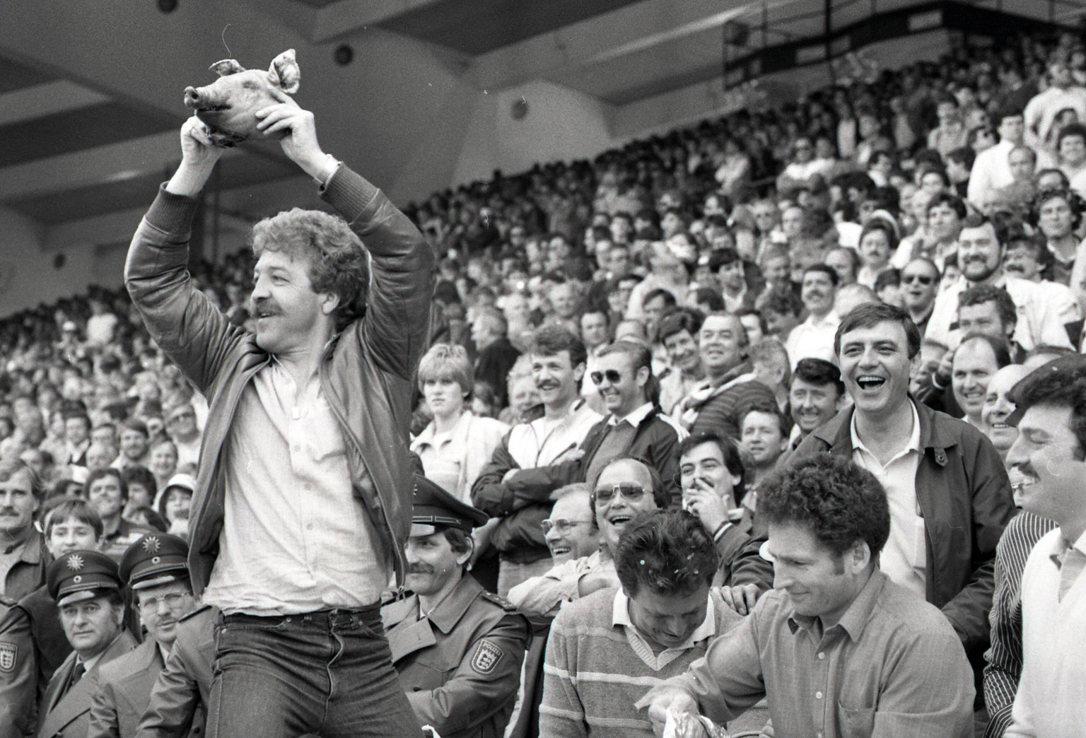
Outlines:
[{"label": "uniform jacket with shield arm patch on the moustached police officer", "polygon": [[528,619],[470,576],[421,620],[414,595],[384,606],[381,618],[422,725],[442,738],[502,736],[531,641]]}]

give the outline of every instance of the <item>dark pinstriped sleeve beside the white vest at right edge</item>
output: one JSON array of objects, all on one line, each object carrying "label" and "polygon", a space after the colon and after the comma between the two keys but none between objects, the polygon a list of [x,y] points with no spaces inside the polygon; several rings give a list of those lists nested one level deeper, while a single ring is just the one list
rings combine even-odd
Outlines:
[{"label": "dark pinstriped sleeve beside the white vest at right edge", "polygon": [[984,738],[999,738],[1011,724],[1022,676],[1022,572],[1030,551],[1056,523],[1020,512],[996,546],[996,593],[992,598],[992,648],[984,654],[984,702],[992,721]]}]

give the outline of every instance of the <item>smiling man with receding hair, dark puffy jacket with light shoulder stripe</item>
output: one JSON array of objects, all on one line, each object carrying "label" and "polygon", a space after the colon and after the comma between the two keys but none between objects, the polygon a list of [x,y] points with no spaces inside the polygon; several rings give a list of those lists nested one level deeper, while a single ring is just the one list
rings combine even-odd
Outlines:
[{"label": "smiling man with receding hair, dark puffy jacket with light shoulder stripe", "polygon": [[[706,380],[694,386],[672,411],[692,433],[721,430],[738,435],[740,416],[756,402],[775,403],[745,357],[746,331],[734,315],[710,315],[702,323],[697,349]],[[665,476],[665,479],[667,479]]]}]

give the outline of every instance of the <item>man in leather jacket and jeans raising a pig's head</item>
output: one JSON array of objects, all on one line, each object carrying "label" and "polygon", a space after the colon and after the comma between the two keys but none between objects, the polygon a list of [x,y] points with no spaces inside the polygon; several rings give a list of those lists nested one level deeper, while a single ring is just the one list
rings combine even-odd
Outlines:
[{"label": "man in leather jacket and jeans raising a pig's head", "polygon": [[407,428],[434,255],[320,150],[313,114],[276,97],[258,129],[282,137],[342,218],[294,209],[254,227],[255,335],[186,269],[198,195],[222,153],[198,118],[125,272],[152,338],[210,405],[189,555],[193,594],[224,613],[207,733],[418,736],[379,600],[404,572]]}]

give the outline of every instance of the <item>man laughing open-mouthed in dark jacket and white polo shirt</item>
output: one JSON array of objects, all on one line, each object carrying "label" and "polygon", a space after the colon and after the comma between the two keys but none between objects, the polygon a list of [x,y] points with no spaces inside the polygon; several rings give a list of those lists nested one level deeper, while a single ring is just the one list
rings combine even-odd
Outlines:
[{"label": "man laughing open-mouthed in dark jacket and white polo shirt", "polygon": [[904,310],[861,305],[842,319],[834,349],[855,409],[813,431],[793,459],[838,454],[875,475],[891,509],[882,570],[943,610],[980,669],[996,544],[1014,512],[999,454],[972,425],[909,396],[920,331]]}]

